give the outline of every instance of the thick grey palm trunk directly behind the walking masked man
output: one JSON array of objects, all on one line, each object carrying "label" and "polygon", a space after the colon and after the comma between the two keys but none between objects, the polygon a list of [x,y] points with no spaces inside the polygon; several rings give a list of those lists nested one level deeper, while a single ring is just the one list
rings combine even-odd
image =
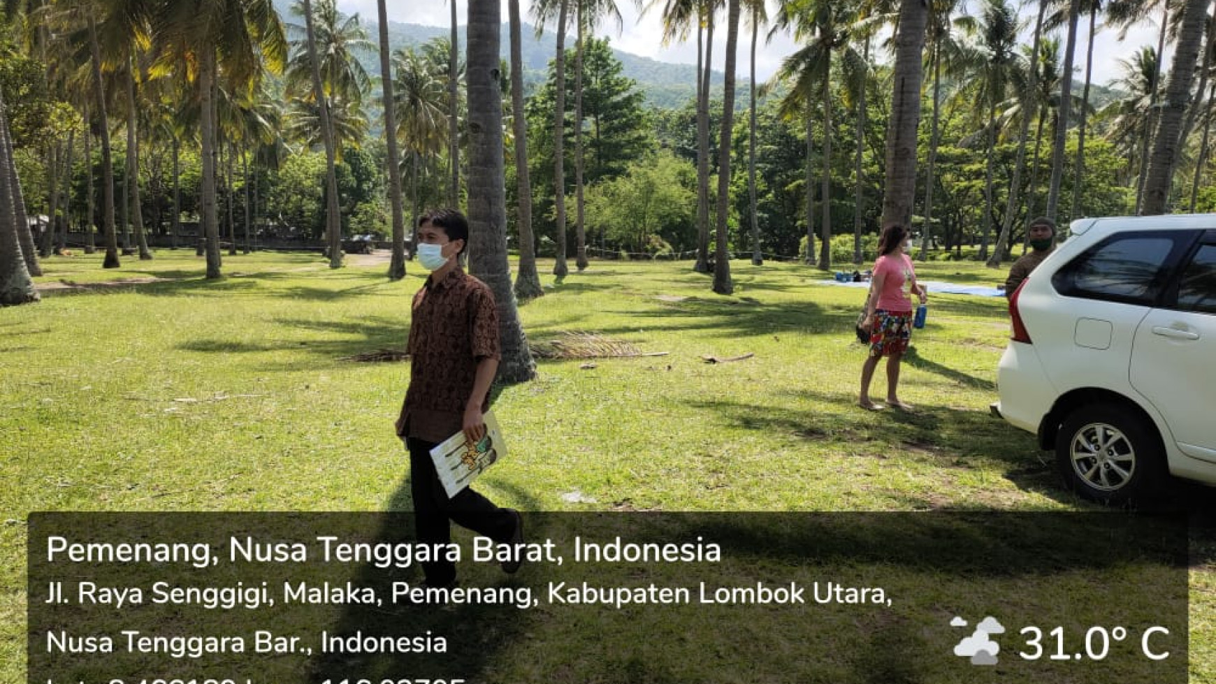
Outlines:
[{"label": "thick grey palm trunk directly behind the walking masked man", "polygon": [[469,272],[494,292],[502,354],[499,379],[520,383],[536,375],[536,363],[519,322],[507,264],[502,90],[497,78],[500,10],[497,2],[471,2],[468,9]]}]

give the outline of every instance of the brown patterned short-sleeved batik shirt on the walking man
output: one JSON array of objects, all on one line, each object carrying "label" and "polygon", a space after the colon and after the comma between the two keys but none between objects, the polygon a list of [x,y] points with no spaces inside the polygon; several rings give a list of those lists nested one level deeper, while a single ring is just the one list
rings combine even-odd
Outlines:
[{"label": "brown patterned short-sleeved batik shirt on the walking man", "polygon": [[[499,311],[490,288],[460,267],[413,295],[410,323],[410,389],[396,434],[441,442],[463,426],[477,364],[500,358]],[[489,409],[489,397],[482,411]]]}]

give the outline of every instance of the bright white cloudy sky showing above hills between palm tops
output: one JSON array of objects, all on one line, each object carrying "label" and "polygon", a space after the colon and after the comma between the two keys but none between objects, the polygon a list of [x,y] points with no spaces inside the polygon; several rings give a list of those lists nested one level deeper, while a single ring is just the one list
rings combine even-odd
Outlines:
[{"label": "bright white cloudy sky showing above hills between palm tops", "polygon": [[[529,0],[520,0],[520,7],[527,15],[527,7],[530,6]],[[974,0],[968,2],[969,5],[976,5]],[[461,23],[465,23],[466,7],[468,0],[456,0],[456,11],[461,17]],[[770,1],[770,7],[775,2]],[[647,57],[653,57],[663,62],[681,62],[687,64],[697,63],[697,43],[696,38],[688,44],[683,45],[663,45],[660,39],[662,27],[660,22],[654,15],[646,15],[638,18],[638,12],[634,9],[634,2],[631,0],[620,0],[617,2],[620,9],[621,16],[624,17],[624,30],[618,35],[617,27],[613,24],[601,27],[597,33],[599,35],[607,35],[612,39],[615,47],[624,50],[626,52],[632,52],[635,55],[643,55]],[[347,13],[359,12],[361,17],[367,19],[376,19],[376,0],[338,0],[338,7]],[[401,23],[413,23],[424,26],[440,26],[446,27],[450,22],[450,12],[447,2],[444,0],[407,0],[407,1],[390,1],[388,2],[388,16],[389,21],[401,22]],[[1030,7],[1023,9],[1023,15],[1026,18],[1028,28],[1025,29],[1025,41],[1029,43],[1031,39],[1031,29],[1034,28],[1034,15]],[[507,18],[507,4],[502,0],[502,19]],[[531,21],[530,17],[525,21]],[[1080,30],[1077,32],[1077,39],[1080,45],[1077,47],[1077,77],[1083,78],[1085,68],[1085,52],[1087,47],[1087,23],[1082,22]],[[744,35],[745,34],[745,35]],[[762,34],[761,34],[762,35]],[[1062,32],[1063,40],[1063,32]],[[739,53],[737,57],[738,73],[741,77],[745,77],[748,73],[748,49],[750,41],[750,30],[739,30]],[[715,67],[722,68],[722,47],[725,46],[725,39],[715,39],[714,50],[714,63]],[[1152,23],[1143,23],[1133,27],[1128,32],[1126,40],[1120,43],[1114,30],[1100,30],[1100,17],[1099,17],[1099,33],[1097,36],[1097,45],[1094,47],[1093,55],[1093,72],[1094,83],[1105,84],[1109,80],[1116,78],[1120,73],[1119,60],[1126,58],[1141,45],[1156,45],[1156,27]],[[782,35],[775,36],[772,43],[769,45],[764,44],[761,38],[761,44],[756,49],[756,75],[759,79],[767,79],[777,70],[781,66],[781,61],[793,52],[795,49],[793,40]],[[1166,50],[1166,58],[1169,58],[1170,51]]]}]

